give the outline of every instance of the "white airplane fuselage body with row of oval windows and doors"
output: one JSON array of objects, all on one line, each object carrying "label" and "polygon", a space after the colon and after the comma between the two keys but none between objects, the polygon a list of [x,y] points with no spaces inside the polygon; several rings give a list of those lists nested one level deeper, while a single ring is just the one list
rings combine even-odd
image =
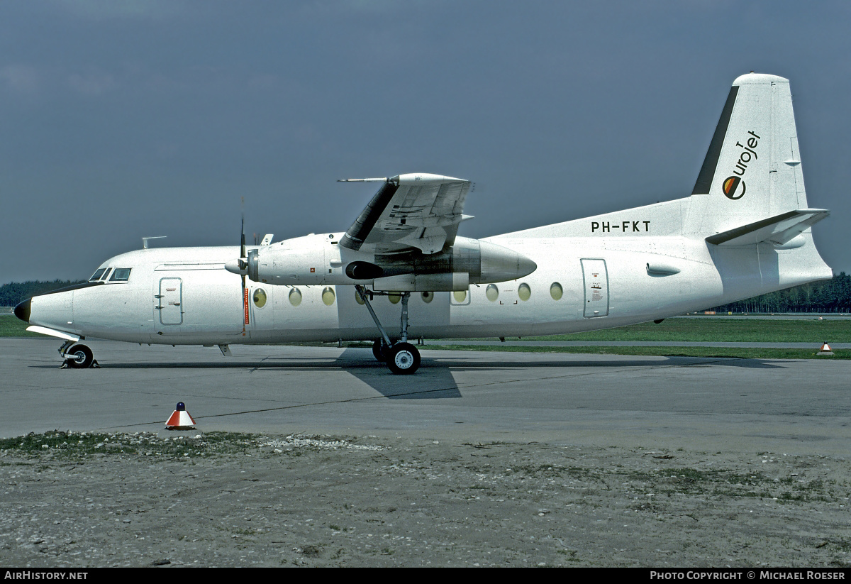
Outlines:
[{"label": "white airplane fuselage body with row of oval windows and doors", "polygon": [[[776,267],[767,271],[761,266],[759,246],[735,249],[724,257],[723,252],[713,254],[702,239],[653,237],[648,232],[620,237],[608,232],[603,237],[595,226],[602,219],[581,221],[588,230],[584,238],[491,238],[532,259],[538,268],[517,280],[471,285],[467,292],[412,293],[408,337],[526,337],[604,329],[813,279],[810,273],[799,281],[781,281]],[[763,249],[763,263],[768,254],[782,261],[782,250],[764,247],[769,249]],[[117,255],[101,267],[129,268],[127,281],[37,296],[30,323],[87,338],[168,345],[377,337],[351,285],[251,281],[243,334],[240,278],[224,269],[237,253],[234,247],[206,247]],[[398,328],[398,299],[375,296],[373,302],[391,335]]]}]

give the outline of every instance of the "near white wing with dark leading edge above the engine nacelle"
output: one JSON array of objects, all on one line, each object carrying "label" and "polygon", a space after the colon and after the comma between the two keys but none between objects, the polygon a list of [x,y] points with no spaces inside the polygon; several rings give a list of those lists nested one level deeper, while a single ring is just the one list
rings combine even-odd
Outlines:
[{"label": "near white wing with dark leading edge above the engine nacelle", "polygon": [[452,245],[463,215],[470,181],[451,176],[410,174],[345,182],[383,182],[340,245],[349,249],[374,246],[378,253],[420,249],[436,254]]}]

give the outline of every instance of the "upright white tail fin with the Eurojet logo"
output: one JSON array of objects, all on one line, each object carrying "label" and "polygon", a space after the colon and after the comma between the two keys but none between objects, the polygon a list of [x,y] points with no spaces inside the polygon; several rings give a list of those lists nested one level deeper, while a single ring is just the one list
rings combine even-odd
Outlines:
[{"label": "upright white tail fin with the Eurojet logo", "polygon": [[807,209],[788,79],[733,82],[692,203],[686,231],[704,236]]}]

